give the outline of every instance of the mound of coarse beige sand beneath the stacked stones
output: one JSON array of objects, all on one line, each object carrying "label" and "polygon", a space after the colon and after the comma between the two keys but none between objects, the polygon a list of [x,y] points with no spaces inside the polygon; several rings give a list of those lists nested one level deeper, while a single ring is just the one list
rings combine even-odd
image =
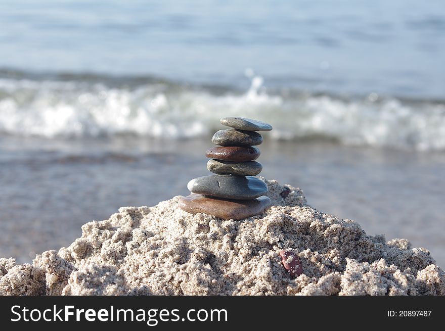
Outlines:
[{"label": "mound of coarse beige sand beneath the stacked stones", "polygon": [[[306,205],[298,188],[266,181],[274,206],[242,221],[188,214],[181,197],[126,207],[32,265],[0,259],[6,295],[444,295],[445,273],[424,248],[385,243]],[[279,252],[298,255],[293,278]]]}]

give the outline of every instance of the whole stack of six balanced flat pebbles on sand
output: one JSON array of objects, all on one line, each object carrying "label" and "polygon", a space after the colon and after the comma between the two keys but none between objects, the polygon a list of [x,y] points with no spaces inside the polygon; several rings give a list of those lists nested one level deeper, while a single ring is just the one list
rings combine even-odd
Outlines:
[{"label": "whole stack of six balanced flat pebbles on sand", "polygon": [[187,188],[192,194],[180,200],[181,209],[205,213],[222,219],[240,220],[263,213],[271,199],[263,196],[268,186],[256,176],[262,170],[259,149],[262,136],[256,131],[270,131],[270,124],[242,117],[225,117],[221,124],[231,127],[212,137],[218,147],[207,150],[211,160],[207,169],[216,175],[192,179]]}]

